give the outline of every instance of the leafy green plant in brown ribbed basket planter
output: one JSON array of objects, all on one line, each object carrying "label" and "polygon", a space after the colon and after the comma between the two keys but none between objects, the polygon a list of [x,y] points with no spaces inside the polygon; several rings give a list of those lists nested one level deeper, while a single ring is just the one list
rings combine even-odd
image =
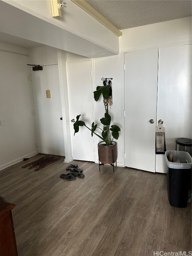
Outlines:
[{"label": "leafy green plant in brown ribbed basket planter", "polygon": [[[85,126],[87,129],[91,131],[91,136],[93,134],[97,135],[102,141],[98,143],[98,153],[99,153],[99,161],[102,164],[113,164],[117,161],[117,143],[113,141],[113,139],[119,138],[119,132],[121,131],[119,126],[111,125],[111,116],[108,114],[108,100],[110,94],[110,85],[106,86],[97,86],[96,91],[94,91],[94,99],[98,101],[100,96],[103,96],[103,103],[105,107],[104,117],[100,119],[102,128],[98,127],[94,122],[91,125],[91,128],[86,126],[84,121],[79,120],[81,115],[78,115],[76,118],[76,122],[73,124],[74,127],[74,135],[79,131],[79,126]],[[111,126],[110,126],[111,125]],[[98,134],[98,131],[100,132]]]}]

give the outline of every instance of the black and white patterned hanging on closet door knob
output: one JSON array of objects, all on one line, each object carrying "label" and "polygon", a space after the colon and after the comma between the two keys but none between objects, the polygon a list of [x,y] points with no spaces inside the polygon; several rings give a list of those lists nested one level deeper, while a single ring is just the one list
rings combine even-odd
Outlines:
[{"label": "black and white patterned hanging on closet door knob", "polygon": [[158,126],[156,127],[156,154],[165,154],[166,145],[165,145],[165,127],[163,127],[163,120],[160,119]]}]

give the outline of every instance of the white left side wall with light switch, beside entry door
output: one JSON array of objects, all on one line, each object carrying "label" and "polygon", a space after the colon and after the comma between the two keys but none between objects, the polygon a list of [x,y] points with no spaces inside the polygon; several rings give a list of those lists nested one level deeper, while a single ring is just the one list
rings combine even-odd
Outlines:
[{"label": "white left side wall with light switch, beside entry door", "polygon": [[[3,44],[0,49],[28,54]],[[37,154],[29,57],[0,51],[0,169]]]}]

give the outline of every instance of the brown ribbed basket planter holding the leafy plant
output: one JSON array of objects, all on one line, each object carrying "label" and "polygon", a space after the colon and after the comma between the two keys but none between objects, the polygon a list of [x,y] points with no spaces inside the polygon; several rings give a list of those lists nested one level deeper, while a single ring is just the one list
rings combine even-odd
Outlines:
[{"label": "brown ribbed basket planter holding the leafy plant", "polygon": [[[105,146],[104,146],[105,145]],[[102,164],[113,164],[117,161],[117,143],[106,146],[105,142],[98,143],[99,161]]]}]

